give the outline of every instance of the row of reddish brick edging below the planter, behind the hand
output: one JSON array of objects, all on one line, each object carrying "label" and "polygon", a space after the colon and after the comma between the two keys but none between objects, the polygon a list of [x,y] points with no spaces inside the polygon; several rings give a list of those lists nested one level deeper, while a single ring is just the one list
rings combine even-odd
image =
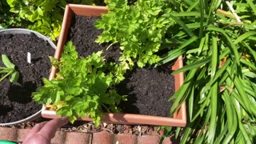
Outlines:
[{"label": "row of reddish brick edging below the planter, behind the hand", "polygon": [[[15,129],[9,127],[0,127],[0,140],[22,142],[30,129]],[[111,134],[105,130],[99,133],[87,134],[78,132],[64,132],[58,130],[55,137],[51,140],[52,144],[158,144],[160,136],[135,134]],[[177,141],[166,138],[163,144],[176,144]]]}]

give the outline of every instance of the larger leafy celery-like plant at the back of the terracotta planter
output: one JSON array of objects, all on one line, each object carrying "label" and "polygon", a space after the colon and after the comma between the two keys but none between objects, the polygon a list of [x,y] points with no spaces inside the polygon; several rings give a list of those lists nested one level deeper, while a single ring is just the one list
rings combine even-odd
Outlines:
[{"label": "larger leafy celery-like plant at the back of the terracotta planter", "polygon": [[[120,43],[119,58],[123,70],[154,64],[161,60],[156,54],[170,26],[166,0],[144,0],[129,6],[127,0],[106,1],[107,14],[102,14],[95,26],[103,32],[96,42]],[[111,48],[111,47],[109,47]]]}]

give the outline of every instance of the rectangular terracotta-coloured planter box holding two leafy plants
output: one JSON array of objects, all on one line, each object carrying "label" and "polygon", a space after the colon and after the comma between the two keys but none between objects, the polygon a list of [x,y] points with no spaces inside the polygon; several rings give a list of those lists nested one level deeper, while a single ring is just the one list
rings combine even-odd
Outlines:
[{"label": "rectangular terracotta-coloured planter box holding two leafy plants", "polygon": [[[102,13],[106,13],[105,6],[85,6],[68,4],[62,23],[62,31],[58,40],[57,50],[54,57],[60,58],[63,50],[63,46],[66,44],[67,33],[70,28],[70,22],[73,14],[84,16],[100,16]],[[179,57],[174,63],[173,70],[177,70],[182,67],[182,57]],[[52,69],[50,73],[50,79],[54,78],[56,70]],[[175,79],[175,91],[182,85],[184,78],[183,74],[174,75]],[[46,110],[46,107],[42,108],[42,117],[44,118],[58,118],[55,111]],[[79,118],[79,120],[91,121],[89,117]],[[174,113],[173,118],[164,118],[158,116],[141,115],[141,114],[105,114],[102,118],[102,122],[110,122],[117,124],[143,124],[143,125],[161,125],[161,126],[186,126],[186,104],[182,104],[180,110]]]}]

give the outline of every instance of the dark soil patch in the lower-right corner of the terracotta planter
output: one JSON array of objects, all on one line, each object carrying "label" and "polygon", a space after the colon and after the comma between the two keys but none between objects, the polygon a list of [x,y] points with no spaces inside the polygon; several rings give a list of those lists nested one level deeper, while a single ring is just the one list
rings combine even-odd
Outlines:
[{"label": "dark soil patch in the lower-right corner of the terracotta planter", "polygon": [[174,77],[171,67],[137,68],[126,73],[126,79],[117,86],[118,94],[128,95],[120,108],[130,114],[170,117],[168,102],[174,94]]}]

